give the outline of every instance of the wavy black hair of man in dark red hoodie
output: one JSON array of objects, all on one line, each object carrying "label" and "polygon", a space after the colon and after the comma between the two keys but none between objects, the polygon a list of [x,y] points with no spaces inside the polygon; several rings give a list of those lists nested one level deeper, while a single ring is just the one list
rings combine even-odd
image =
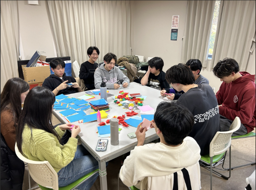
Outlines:
[{"label": "wavy black hair of man in dark red hoodie", "polygon": [[239,72],[239,65],[235,59],[224,58],[223,61],[219,61],[212,70],[213,74],[218,78],[229,76],[232,72]]}]

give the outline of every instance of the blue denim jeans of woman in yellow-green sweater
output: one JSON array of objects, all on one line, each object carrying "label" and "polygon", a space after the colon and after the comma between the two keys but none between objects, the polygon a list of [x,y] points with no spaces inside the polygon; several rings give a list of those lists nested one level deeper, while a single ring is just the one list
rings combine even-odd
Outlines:
[{"label": "blue denim jeans of woman in yellow-green sweater", "polygon": [[[97,168],[99,168],[98,161],[80,144],[77,147],[74,160],[57,173],[59,187],[67,186]],[[89,190],[98,176],[98,173],[94,174],[76,189]]]}]

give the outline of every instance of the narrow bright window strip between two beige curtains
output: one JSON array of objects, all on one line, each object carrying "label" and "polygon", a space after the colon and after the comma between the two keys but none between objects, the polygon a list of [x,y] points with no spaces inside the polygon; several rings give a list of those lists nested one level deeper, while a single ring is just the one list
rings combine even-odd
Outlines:
[{"label": "narrow bright window strip between two beige curtains", "polygon": [[213,19],[212,19],[212,24],[211,24],[211,35],[210,35],[208,59],[211,59],[211,55],[213,52],[213,46],[214,46],[215,35],[216,35],[217,24],[218,24],[220,4],[221,4],[220,0],[215,1],[214,11],[213,11]]}]

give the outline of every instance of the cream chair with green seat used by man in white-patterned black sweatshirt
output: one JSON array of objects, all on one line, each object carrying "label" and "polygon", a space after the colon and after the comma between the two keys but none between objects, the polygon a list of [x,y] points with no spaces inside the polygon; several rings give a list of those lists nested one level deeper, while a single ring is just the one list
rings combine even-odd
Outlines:
[{"label": "cream chair with green seat used by man in white-patterned black sweatshirt", "polygon": [[[220,132],[218,131],[210,143],[210,153],[206,156],[201,156],[200,161],[209,164],[210,166],[200,165],[206,169],[208,169],[210,173],[210,182],[211,182],[211,189],[212,189],[212,173],[228,180],[231,177],[231,135],[233,132],[237,131],[241,125],[239,117],[236,117],[233,123],[229,127],[229,131]],[[221,160],[223,155],[229,149],[229,177],[215,171],[212,169],[212,164]],[[210,168],[210,169],[209,169]]]}]

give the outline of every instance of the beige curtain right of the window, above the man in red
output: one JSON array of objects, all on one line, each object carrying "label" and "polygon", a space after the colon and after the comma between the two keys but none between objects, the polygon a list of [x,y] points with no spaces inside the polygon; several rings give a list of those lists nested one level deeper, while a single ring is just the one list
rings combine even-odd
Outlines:
[{"label": "beige curtain right of the window, above the man in red", "polygon": [[255,35],[255,0],[223,1],[213,47],[211,67],[219,60],[231,57],[246,69]]}]

